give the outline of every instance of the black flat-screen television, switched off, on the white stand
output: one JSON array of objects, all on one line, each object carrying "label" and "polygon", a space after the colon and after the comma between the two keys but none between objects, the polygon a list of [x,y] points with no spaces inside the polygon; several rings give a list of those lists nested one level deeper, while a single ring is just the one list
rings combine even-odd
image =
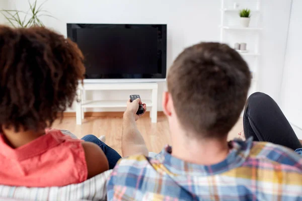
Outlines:
[{"label": "black flat-screen television, switched off, on the white stand", "polygon": [[167,25],[67,24],[86,79],[166,78]]}]

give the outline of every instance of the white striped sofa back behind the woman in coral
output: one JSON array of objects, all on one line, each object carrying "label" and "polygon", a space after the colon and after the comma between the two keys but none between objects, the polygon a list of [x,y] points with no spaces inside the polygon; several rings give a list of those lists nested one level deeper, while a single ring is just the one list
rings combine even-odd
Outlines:
[{"label": "white striped sofa back behind the woman in coral", "polygon": [[0,185],[0,200],[106,200],[106,181],[111,172],[108,170],[82,183],[62,187]]}]

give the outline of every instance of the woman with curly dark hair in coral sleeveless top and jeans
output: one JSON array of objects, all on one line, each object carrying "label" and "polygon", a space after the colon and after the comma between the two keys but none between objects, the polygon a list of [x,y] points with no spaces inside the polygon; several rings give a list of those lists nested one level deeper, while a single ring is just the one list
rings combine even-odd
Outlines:
[{"label": "woman with curly dark hair in coral sleeveless top and jeans", "polygon": [[48,29],[0,27],[0,184],[80,183],[121,158],[95,136],[47,129],[72,105],[83,60],[75,43]]}]

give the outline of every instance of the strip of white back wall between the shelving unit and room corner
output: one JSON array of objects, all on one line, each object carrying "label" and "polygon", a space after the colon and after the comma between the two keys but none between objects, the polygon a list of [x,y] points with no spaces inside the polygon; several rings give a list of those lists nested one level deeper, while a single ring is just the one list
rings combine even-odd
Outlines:
[{"label": "strip of white back wall between the shelving unit and room corner", "polygon": [[[300,0],[298,0],[300,1]],[[290,17],[290,0],[263,0],[262,66],[259,89],[280,104],[280,88]],[[275,13],[278,15],[275,15]]]}]

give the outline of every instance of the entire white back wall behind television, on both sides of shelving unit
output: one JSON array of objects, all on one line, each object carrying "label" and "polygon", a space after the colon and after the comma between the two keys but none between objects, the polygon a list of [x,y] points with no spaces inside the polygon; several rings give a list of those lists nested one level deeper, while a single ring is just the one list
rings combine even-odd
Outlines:
[{"label": "entire white back wall behind television, on both sides of shelving unit", "polygon": [[[230,5],[234,2],[226,1],[229,1]],[[17,7],[19,10],[28,8],[28,3],[24,0],[9,2],[12,8]],[[251,3],[247,0],[235,2]],[[262,0],[262,2],[264,30],[258,88],[278,102],[291,2],[289,0]],[[66,23],[167,24],[167,65],[170,66],[185,47],[200,41],[219,40],[220,3],[220,0],[51,0],[43,8],[58,20],[44,18],[43,22],[64,35]],[[278,15],[275,15],[276,12]],[[165,88],[165,84],[160,84],[160,97]],[[94,92],[88,96],[98,99],[127,99],[130,93],[134,91]],[[142,99],[150,97],[145,91],[138,93]],[[161,98],[159,106],[161,109]]]}]

